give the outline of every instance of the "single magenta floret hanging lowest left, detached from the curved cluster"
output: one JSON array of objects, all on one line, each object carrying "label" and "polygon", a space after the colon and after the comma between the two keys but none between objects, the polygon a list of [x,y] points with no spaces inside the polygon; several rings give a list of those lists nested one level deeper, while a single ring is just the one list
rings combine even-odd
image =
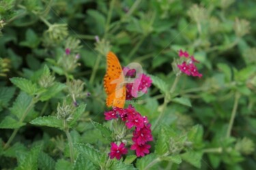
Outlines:
[{"label": "single magenta floret hanging lowest left, detached from the curved cluster", "polygon": [[109,156],[111,159],[117,158],[118,160],[121,158],[122,154],[127,154],[128,150],[124,147],[125,144],[122,142],[119,146],[114,142],[111,143],[111,151]]}]

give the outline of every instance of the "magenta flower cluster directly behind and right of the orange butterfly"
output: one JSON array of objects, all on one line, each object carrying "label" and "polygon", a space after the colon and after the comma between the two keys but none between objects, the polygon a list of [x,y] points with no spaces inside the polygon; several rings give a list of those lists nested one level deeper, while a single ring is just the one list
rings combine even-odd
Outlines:
[{"label": "magenta flower cluster directly behind and right of the orange butterfly", "polygon": [[[129,69],[128,67],[124,67],[123,72],[126,74],[126,77],[130,78],[134,78],[136,74],[135,69]],[[151,85],[152,80],[149,76],[144,73],[138,73],[134,82],[126,84],[126,100],[137,97],[139,92],[147,93],[147,88],[150,88]]]}]

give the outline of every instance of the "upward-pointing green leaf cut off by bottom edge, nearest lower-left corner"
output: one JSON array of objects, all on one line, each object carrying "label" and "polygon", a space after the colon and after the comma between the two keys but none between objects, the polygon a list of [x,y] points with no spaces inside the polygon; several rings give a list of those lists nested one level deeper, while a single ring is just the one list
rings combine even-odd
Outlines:
[{"label": "upward-pointing green leaf cut off by bottom edge, nearest lower-left corner", "polygon": [[23,161],[20,161],[16,170],[33,170],[38,169],[38,155],[41,147],[35,146],[30,150]]}]

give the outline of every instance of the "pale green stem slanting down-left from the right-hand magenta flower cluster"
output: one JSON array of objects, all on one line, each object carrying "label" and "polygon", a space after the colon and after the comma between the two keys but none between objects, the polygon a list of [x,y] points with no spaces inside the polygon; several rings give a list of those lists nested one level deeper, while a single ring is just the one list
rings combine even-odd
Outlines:
[{"label": "pale green stem slanting down-left from the right-hand magenta flower cluster", "polygon": [[176,86],[177,86],[177,82],[178,82],[179,80],[180,80],[180,75],[176,76],[176,78],[175,78],[175,80],[174,80],[174,82],[173,82],[173,86],[171,86],[170,94],[167,93],[167,94],[165,95],[165,101],[164,101],[164,103],[162,104],[162,111],[160,112],[160,114],[159,114],[159,116],[158,116],[156,122],[155,122],[154,125],[152,126],[152,131],[154,131],[154,129],[155,129],[156,126],[158,125],[158,122],[160,121],[160,119],[162,118],[163,114],[165,113],[165,109],[166,109],[166,107],[167,107],[167,104],[168,104],[169,101],[171,100],[171,97],[170,97],[169,95],[171,95],[171,94],[174,92],[174,90],[175,90],[175,88],[176,88]]}]

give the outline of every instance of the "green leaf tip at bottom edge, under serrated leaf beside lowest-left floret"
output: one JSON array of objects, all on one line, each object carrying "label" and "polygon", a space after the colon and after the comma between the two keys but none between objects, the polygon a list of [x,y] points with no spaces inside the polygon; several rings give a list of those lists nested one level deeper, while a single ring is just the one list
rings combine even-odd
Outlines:
[{"label": "green leaf tip at bottom edge, under serrated leaf beside lowest-left floret", "polygon": [[76,161],[74,162],[73,170],[84,170],[90,169],[90,170],[97,170],[98,168],[94,166],[91,161],[89,161],[85,155],[79,154],[79,156],[76,158]]}]

